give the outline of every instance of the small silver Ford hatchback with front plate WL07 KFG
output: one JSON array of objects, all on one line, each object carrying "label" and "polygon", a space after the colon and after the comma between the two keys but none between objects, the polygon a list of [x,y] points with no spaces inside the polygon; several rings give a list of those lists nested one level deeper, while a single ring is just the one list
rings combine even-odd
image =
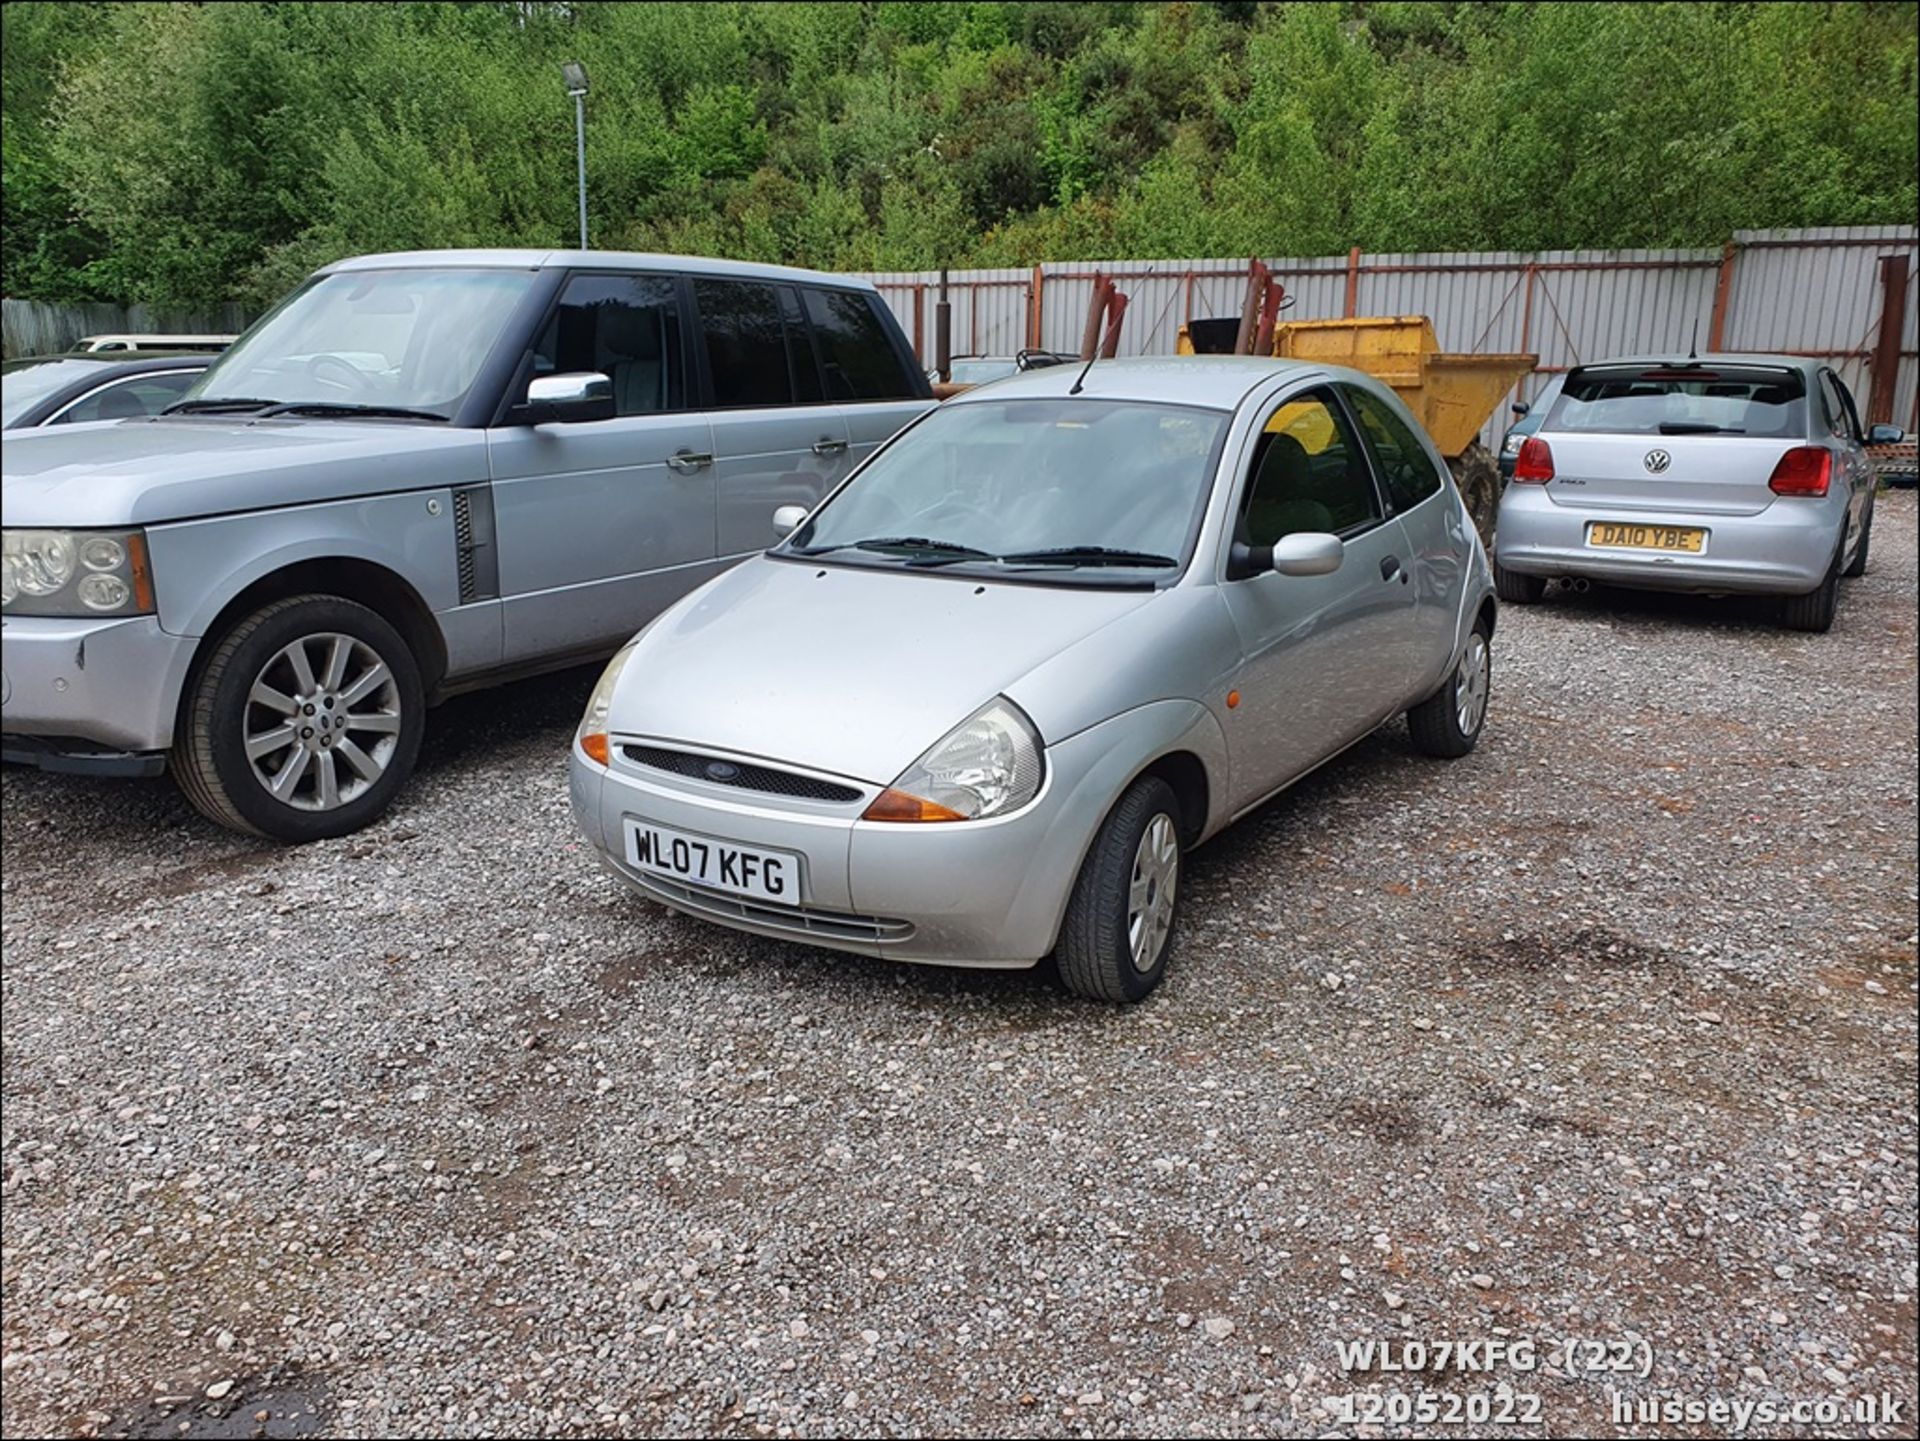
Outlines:
[{"label": "small silver Ford hatchback with front plate WL07 KFG", "polygon": [[1267,359],[1027,372],[914,422],[636,635],[572,804],[639,892],[945,965],[1160,980],[1181,856],[1405,712],[1473,750],[1492,572],[1392,391]]}]

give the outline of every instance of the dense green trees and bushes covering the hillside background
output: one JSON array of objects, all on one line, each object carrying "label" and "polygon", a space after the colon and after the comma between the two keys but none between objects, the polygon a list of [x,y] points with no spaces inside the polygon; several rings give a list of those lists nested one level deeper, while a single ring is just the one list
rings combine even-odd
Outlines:
[{"label": "dense green trees and bushes covering the hillside background", "polygon": [[1914,223],[1908,0],[6,8],[8,294],[599,246],[828,269]]}]

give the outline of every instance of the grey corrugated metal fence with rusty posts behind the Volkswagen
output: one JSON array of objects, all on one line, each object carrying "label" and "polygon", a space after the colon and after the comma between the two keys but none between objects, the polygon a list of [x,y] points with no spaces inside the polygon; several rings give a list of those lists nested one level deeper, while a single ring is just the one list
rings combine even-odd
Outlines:
[{"label": "grey corrugated metal fence with rusty posts behind the Volkswagen", "polygon": [[[1515,391],[1617,355],[1738,349],[1830,359],[1866,405],[1882,311],[1882,257],[1914,271],[1914,226],[1741,230],[1720,249],[1557,249],[1271,259],[1292,307],[1283,320],[1427,315],[1442,349],[1532,351],[1540,365]],[[950,271],[954,355],[1012,355],[1039,345],[1079,351],[1094,274],[1129,297],[1121,355],[1169,355],[1196,317],[1238,315],[1244,259],[1077,261],[1031,271]],[[868,276],[933,365],[939,271]],[[1891,420],[1920,430],[1914,301],[1908,284]],[[1488,422],[1494,439],[1505,413]]]}]

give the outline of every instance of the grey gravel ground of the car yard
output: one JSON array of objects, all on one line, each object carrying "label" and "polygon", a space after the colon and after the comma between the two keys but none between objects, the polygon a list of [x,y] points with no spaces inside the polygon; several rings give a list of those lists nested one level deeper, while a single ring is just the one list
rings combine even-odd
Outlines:
[{"label": "grey gravel ground of the car yard", "polygon": [[1914,520],[1826,637],[1507,608],[1478,752],[1198,852],[1127,1011],[614,890],[584,672],[303,850],[10,771],[4,1429],[1352,1433],[1340,1341],[1574,1335],[1651,1374],[1425,1383],[1912,1435]]}]

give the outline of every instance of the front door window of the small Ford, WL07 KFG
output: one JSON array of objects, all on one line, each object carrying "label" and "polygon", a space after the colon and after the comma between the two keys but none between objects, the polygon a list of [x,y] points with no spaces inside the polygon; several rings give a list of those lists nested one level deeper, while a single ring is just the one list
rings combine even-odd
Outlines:
[{"label": "front door window of the small Ford, WL07 KFG", "polygon": [[1354,535],[1384,520],[1359,441],[1329,391],[1283,401],[1254,443],[1238,530],[1248,545],[1283,535]]}]

